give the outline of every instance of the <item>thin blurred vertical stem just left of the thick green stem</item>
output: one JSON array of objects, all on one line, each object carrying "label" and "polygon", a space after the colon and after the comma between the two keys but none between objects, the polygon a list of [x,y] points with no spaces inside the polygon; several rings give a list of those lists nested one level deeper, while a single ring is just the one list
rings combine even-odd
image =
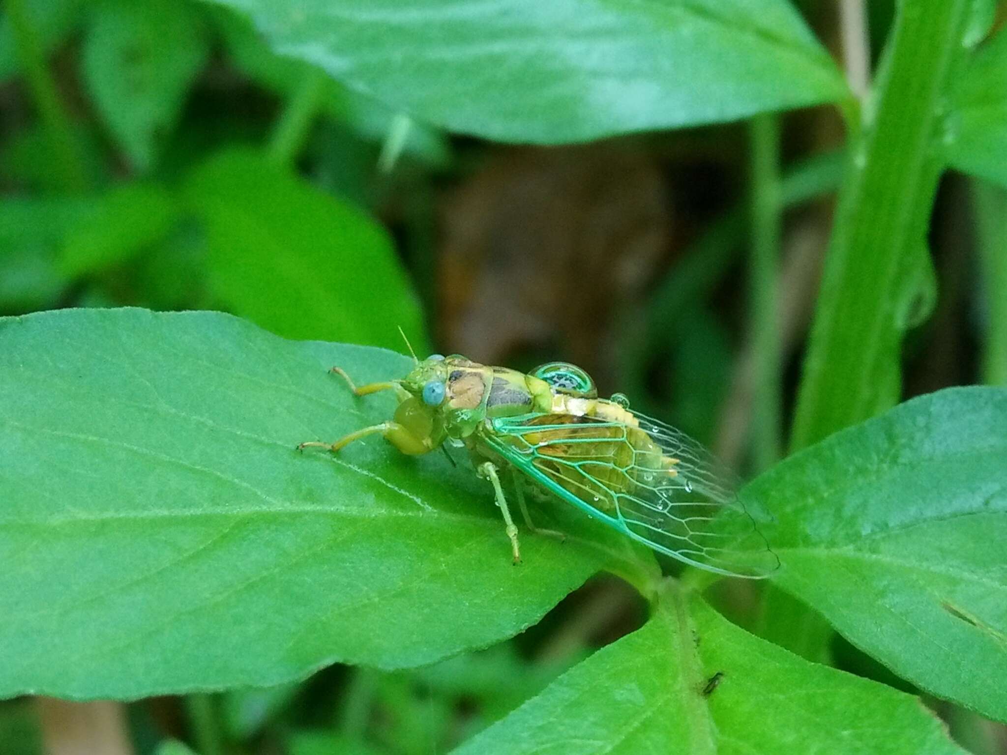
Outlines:
[{"label": "thin blurred vertical stem just left of the thick green stem", "polygon": [[761,471],[780,455],[782,363],[779,310],[779,119],[758,115],[749,124],[751,247],[748,307],[755,357],[752,460]]}]

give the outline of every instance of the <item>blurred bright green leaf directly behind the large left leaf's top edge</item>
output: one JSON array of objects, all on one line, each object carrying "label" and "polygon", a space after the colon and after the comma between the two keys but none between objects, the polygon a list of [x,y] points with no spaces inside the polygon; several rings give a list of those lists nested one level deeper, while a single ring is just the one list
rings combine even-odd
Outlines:
[{"label": "blurred bright green leaf directly behind the large left leaf's top edge", "polygon": [[188,181],[209,238],[209,286],[224,305],[288,338],[428,351],[422,315],[388,234],[253,152],[210,160]]}]

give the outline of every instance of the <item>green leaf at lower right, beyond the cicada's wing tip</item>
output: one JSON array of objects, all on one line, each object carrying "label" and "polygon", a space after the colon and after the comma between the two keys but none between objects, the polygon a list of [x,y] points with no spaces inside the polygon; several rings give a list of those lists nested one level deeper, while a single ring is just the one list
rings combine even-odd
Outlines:
[{"label": "green leaf at lower right, beyond the cicada's wing tip", "polygon": [[775,582],[933,695],[1007,721],[1007,390],[910,401],[742,492],[771,510]]}]

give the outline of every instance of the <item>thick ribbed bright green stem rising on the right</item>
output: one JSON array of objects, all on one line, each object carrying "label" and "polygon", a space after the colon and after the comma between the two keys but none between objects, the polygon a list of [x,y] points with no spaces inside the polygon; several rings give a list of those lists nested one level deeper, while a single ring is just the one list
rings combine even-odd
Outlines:
[{"label": "thick ribbed bright green stem rising on the right", "polygon": [[792,447],[900,396],[904,330],[932,275],[926,231],[944,164],[934,149],[961,64],[970,0],[902,0],[876,107],[853,142],[799,391]]}]

